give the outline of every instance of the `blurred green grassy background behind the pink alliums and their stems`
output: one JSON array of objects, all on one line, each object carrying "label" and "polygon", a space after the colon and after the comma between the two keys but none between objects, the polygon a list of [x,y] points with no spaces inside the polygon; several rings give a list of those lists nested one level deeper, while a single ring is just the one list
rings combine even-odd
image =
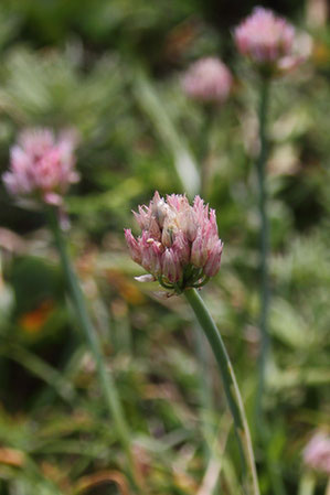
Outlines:
[{"label": "blurred green grassy background behind the pink alliums and their stems", "polygon": [[[319,495],[327,480],[307,472],[301,450],[315,429],[329,429],[330,417],[330,26],[326,0],[260,3],[297,25],[311,54],[272,87],[273,347],[265,401],[272,432],[266,446],[256,440],[256,460],[263,494],[307,494],[301,486],[315,476]],[[202,187],[217,212],[223,265],[203,298],[255,435],[258,95],[232,39],[255,6],[0,4],[0,169],[23,128],[79,132],[82,180],[66,202],[70,247],[152,495],[241,493],[222,386],[189,308],[134,281],[142,270],[129,260],[123,229],[136,228],[131,209],[155,190],[192,197]],[[211,122],[180,84],[189,64],[205,55],[220,56],[235,80]],[[123,452],[66,303],[45,218],[18,207],[3,185],[0,248],[0,494],[125,494]],[[99,473],[108,473],[107,482]]]}]

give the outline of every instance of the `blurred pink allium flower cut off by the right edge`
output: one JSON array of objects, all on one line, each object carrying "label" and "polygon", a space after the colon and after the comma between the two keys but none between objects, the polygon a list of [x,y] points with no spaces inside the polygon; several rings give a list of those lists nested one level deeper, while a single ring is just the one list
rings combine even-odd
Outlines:
[{"label": "blurred pink allium flower cut off by the right edge", "polygon": [[316,433],[304,450],[305,464],[330,475],[330,437]]}]

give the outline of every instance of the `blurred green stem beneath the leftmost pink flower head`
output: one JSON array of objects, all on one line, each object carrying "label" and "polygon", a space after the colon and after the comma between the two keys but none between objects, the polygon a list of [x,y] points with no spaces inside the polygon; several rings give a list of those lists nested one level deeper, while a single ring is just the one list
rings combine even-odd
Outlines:
[{"label": "blurred green stem beneath the leftmost pink flower head", "polygon": [[127,456],[130,482],[134,488],[138,493],[140,493],[140,491],[138,489],[139,484],[137,483],[135,463],[131,453],[130,435],[126,426],[126,421],[124,419],[118,392],[116,390],[115,381],[110,374],[110,370],[106,368],[97,333],[95,332],[91,318],[87,313],[84,295],[71,263],[70,256],[67,254],[66,244],[58,223],[57,211],[55,208],[50,208],[47,212],[47,217],[60,252],[60,258],[66,278],[70,295],[76,310],[76,316],[79,326],[85,334],[91,353],[95,359],[99,384],[103,388],[106,406],[111,419],[114,420],[119,441]]}]

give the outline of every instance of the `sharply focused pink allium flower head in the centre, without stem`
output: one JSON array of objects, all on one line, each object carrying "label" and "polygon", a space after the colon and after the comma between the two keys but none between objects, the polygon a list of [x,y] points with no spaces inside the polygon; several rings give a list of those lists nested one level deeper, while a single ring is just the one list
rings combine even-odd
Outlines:
[{"label": "sharply focused pink allium flower head in the centre, without stem", "polygon": [[139,206],[134,214],[142,233],[135,238],[125,229],[130,256],[166,289],[180,293],[217,273],[223,243],[215,212],[200,196],[191,206],[185,196],[172,194],[164,200],[156,192],[149,206]]}]

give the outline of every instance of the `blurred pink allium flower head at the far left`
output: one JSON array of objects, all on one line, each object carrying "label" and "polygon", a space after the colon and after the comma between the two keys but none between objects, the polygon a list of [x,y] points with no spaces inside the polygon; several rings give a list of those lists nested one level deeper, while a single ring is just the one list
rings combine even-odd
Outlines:
[{"label": "blurred pink allium flower head at the far left", "polygon": [[62,132],[55,138],[49,129],[28,129],[10,150],[10,171],[2,180],[19,200],[61,205],[62,196],[79,176],[74,170],[76,136]]}]

